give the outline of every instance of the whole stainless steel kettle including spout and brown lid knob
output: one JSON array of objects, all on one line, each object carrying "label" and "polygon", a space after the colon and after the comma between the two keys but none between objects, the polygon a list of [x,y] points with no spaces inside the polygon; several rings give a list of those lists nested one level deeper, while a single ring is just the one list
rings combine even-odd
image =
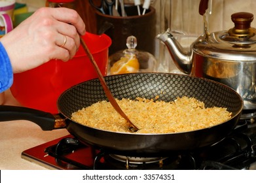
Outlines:
[{"label": "whole stainless steel kettle including spout and brown lid knob", "polygon": [[210,78],[230,86],[244,99],[244,110],[256,109],[256,29],[253,14],[232,14],[229,31],[205,33],[184,52],[170,30],[157,35],[175,65],[188,75]]}]

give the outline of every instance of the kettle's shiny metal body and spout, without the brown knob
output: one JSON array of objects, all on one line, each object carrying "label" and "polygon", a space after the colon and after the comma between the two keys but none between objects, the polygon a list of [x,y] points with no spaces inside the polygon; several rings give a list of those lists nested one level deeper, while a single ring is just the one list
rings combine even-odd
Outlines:
[{"label": "kettle's shiny metal body and spout, without the brown knob", "polygon": [[207,39],[202,35],[186,54],[170,31],[158,35],[158,39],[166,44],[183,73],[226,84],[242,96],[244,109],[256,109],[256,44],[246,44],[247,47],[232,46],[230,42],[219,44],[223,42],[220,39],[223,33],[211,33]]}]

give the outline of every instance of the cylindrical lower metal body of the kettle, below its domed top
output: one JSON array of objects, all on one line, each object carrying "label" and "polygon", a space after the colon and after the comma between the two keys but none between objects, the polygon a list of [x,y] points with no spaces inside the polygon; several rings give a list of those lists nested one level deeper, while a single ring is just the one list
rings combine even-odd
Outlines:
[{"label": "cylindrical lower metal body of the kettle, below its domed top", "polygon": [[192,62],[191,75],[230,86],[243,98],[244,109],[256,108],[256,61],[225,61],[194,54]]}]

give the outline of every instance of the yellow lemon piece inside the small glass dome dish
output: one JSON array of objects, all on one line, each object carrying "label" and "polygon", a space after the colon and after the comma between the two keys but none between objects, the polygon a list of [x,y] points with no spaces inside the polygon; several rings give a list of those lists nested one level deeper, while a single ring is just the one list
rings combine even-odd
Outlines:
[{"label": "yellow lemon piece inside the small glass dome dish", "polygon": [[139,61],[134,54],[126,54],[125,57],[120,58],[110,68],[111,75],[119,75],[126,73],[137,73],[139,71]]}]

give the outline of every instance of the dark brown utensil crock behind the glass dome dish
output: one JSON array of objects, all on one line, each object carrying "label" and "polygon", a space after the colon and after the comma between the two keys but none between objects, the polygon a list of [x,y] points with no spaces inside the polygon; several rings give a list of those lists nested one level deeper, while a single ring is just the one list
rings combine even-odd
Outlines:
[{"label": "dark brown utensil crock behind the glass dome dish", "polygon": [[133,4],[125,5],[127,16],[109,16],[96,11],[96,33],[108,35],[112,44],[109,55],[126,49],[126,39],[130,35],[137,38],[137,50],[155,54],[156,13],[150,7],[145,15],[137,15],[137,7]]}]

